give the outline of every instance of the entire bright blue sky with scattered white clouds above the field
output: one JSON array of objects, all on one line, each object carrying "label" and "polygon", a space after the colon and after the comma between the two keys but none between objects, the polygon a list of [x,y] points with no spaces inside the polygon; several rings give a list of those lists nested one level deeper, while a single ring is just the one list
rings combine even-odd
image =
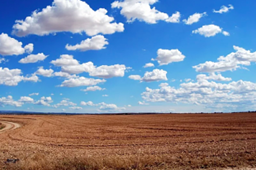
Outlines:
[{"label": "entire bright blue sky with scattered white clouds above the field", "polygon": [[0,110],[256,110],[254,5],[2,0]]}]

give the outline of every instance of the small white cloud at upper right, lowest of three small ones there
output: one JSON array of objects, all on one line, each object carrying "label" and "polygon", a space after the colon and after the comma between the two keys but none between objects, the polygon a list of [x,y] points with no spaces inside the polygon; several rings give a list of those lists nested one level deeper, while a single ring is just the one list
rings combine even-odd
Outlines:
[{"label": "small white cloud at upper right, lowest of three small ones there", "polygon": [[221,27],[217,26],[217,25],[204,25],[203,27],[194,30],[192,32],[193,34],[200,34],[200,35],[204,35],[205,37],[211,37],[211,36],[215,36],[216,34],[220,34],[222,33],[225,36],[229,36],[229,33],[226,31],[223,31]]}]

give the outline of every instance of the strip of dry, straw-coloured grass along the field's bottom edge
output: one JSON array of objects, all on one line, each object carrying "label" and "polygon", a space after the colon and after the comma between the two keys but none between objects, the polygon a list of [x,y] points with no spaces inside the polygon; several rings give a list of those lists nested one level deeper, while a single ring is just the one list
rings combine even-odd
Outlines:
[{"label": "strip of dry, straw-coloured grass along the field's bottom edge", "polygon": [[[196,170],[255,167],[256,156],[240,155],[212,161],[198,157],[192,161],[182,158],[157,156],[133,157],[86,157],[48,160],[40,154],[16,164],[5,164],[7,170]],[[246,158],[246,160],[245,160]],[[243,159],[243,160],[240,160]],[[245,163],[245,164],[244,164]]]}]

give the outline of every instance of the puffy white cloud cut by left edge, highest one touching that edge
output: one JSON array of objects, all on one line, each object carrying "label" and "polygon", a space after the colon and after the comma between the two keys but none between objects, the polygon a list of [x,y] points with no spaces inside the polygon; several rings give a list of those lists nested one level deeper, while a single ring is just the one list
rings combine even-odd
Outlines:
[{"label": "puffy white cloud cut by left edge, highest one touching that edge", "polygon": [[30,53],[33,49],[33,44],[28,44],[23,48],[22,42],[18,42],[8,34],[0,34],[0,55],[20,55],[25,52]]}]

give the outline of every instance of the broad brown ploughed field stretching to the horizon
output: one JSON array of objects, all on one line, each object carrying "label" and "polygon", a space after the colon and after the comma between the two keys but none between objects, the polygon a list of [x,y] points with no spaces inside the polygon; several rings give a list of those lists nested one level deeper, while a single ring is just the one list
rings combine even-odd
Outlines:
[{"label": "broad brown ploughed field stretching to the horizon", "polygon": [[20,125],[0,133],[5,170],[256,168],[256,113],[0,115],[0,122]]}]

